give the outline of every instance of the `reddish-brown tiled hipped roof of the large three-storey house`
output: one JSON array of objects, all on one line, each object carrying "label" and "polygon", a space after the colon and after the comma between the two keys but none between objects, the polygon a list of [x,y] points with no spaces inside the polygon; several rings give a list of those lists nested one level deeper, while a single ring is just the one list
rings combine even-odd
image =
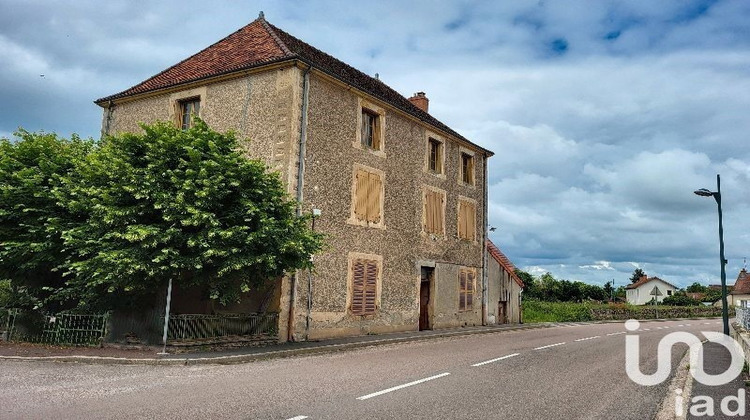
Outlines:
[{"label": "reddish-brown tiled hipped roof of the large three-storey house", "polygon": [[492,156],[491,151],[477,146],[453,131],[385,83],[271,25],[265,20],[262,13],[258,19],[203,51],[130,89],[94,102],[100,106],[105,106],[109,101],[133,95],[167,89],[254,67],[294,60],[311,65],[317,70],[360,89],[439,130],[464,140]]}]

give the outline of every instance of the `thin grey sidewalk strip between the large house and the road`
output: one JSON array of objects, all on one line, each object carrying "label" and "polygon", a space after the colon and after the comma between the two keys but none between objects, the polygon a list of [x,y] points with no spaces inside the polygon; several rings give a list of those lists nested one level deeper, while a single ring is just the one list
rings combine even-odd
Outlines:
[{"label": "thin grey sidewalk strip between the large house and the road", "polygon": [[519,331],[549,328],[559,323],[504,324],[477,327],[464,327],[445,330],[408,331],[380,335],[343,337],[320,341],[300,341],[281,343],[263,347],[242,347],[224,351],[178,353],[153,357],[107,357],[107,356],[0,356],[0,360],[26,360],[74,362],[91,364],[146,364],[146,365],[194,365],[194,364],[233,364],[256,360],[291,357],[298,355],[330,353],[360,347],[405,343],[421,340],[458,337],[462,335],[490,334],[504,331]]}]

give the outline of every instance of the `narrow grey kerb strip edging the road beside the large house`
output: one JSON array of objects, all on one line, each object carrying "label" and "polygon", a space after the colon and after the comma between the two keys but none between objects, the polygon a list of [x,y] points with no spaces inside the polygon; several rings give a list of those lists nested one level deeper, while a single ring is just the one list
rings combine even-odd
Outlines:
[{"label": "narrow grey kerb strip edging the road beside the large house", "polygon": [[408,342],[427,341],[433,339],[461,337],[479,334],[497,334],[511,331],[533,330],[550,328],[554,325],[548,324],[526,324],[518,327],[502,329],[477,329],[477,330],[452,330],[444,333],[429,335],[413,335],[407,337],[384,338],[381,340],[355,341],[351,343],[328,344],[321,346],[303,347],[298,349],[271,350],[262,353],[239,354],[231,356],[215,356],[200,358],[124,358],[105,356],[0,356],[0,360],[12,360],[20,362],[62,362],[82,363],[100,365],[153,365],[153,366],[189,366],[189,365],[228,365],[238,363],[250,363],[260,360],[279,359],[301,355],[313,355],[324,353],[336,353],[345,350],[354,350],[364,347],[375,347],[388,344],[399,344]]}]

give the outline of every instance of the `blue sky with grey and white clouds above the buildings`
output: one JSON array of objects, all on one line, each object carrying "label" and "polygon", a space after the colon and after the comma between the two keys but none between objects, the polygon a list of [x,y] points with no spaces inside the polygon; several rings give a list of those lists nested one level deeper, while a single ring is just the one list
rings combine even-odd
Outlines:
[{"label": "blue sky with grey and white clouds above the buildings", "polygon": [[[729,283],[750,257],[750,2],[0,0],[0,136],[98,138],[93,100],[266,19],[495,152],[491,238],[531,272]],[[43,76],[42,76],[43,75]]]}]

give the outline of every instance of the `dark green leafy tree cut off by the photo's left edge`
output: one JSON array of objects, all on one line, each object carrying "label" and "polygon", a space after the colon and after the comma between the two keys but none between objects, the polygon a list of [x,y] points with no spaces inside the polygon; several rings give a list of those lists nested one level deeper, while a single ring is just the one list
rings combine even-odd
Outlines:
[{"label": "dark green leafy tree cut off by the photo's left edge", "polygon": [[[0,139],[0,279],[10,279],[9,306],[39,306],[46,287],[63,284],[68,255],[62,231],[80,220],[60,206],[55,190],[93,141],[19,130]],[[10,293],[10,292],[9,292]]]}]

